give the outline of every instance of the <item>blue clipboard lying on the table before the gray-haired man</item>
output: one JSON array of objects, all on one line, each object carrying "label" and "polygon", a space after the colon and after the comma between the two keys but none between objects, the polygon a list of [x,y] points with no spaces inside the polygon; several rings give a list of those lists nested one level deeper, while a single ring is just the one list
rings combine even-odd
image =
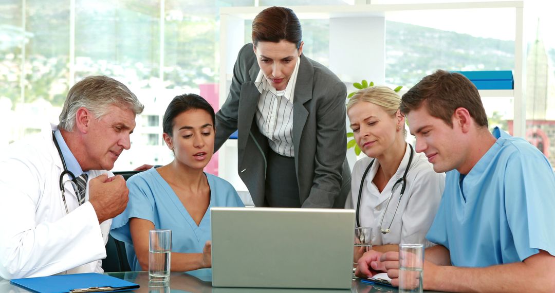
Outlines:
[{"label": "blue clipboard lying on the table before the gray-haired man", "polygon": [[37,293],[118,292],[139,287],[135,283],[95,272],[13,279],[9,282]]}]

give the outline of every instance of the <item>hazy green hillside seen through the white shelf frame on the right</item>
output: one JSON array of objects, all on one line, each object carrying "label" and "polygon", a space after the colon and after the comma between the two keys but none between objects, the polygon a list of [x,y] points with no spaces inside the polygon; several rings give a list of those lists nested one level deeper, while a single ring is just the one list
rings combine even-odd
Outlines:
[{"label": "hazy green hillside seen through the white shelf frame on the right", "polygon": [[[551,54],[555,60],[555,50]],[[386,82],[412,87],[436,69],[512,70],[514,42],[386,22]]]}]

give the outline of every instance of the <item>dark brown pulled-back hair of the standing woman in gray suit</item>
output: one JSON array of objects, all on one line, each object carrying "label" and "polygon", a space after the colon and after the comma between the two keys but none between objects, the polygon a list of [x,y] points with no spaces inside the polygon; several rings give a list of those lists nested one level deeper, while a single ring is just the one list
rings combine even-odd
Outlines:
[{"label": "dark brown pulled-back hair of the standing woman in gray suit", "polygon": [[301,46],[301,22],[289,8],[269,7],[261,11],[253,20],[253,43],[285,40]]}]

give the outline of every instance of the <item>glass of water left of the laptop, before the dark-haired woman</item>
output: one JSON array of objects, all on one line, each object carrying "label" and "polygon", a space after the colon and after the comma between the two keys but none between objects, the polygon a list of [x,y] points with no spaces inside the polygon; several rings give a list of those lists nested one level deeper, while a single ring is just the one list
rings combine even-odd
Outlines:
[{"label": "glass of water left of the laptop, before the dark-haired woman", "polygon": [[171,230],[150,230],[148,246],[148,280],[170,280]]}]

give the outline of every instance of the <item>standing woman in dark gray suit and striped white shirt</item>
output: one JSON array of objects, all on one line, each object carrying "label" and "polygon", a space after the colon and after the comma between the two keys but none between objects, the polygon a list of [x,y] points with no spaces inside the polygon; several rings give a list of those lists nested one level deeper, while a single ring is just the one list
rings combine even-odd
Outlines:
[{"label": "standing woman in dark gray suit and striped white shirt", "polygon": [[302,54],[291,9],[264,9],[252,37],[216,113],[216,150],[239,130],[239,176],[256,206],[342,208],[351,178],[345,85]]}]

